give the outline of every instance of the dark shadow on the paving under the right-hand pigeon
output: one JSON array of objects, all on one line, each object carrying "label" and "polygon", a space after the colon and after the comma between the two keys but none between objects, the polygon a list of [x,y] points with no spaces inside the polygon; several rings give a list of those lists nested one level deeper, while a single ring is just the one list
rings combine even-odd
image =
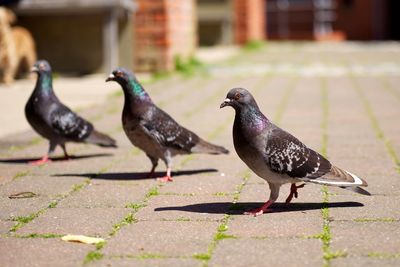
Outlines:
[{"label": "dark shadow on the paving under the right-hand pigeon", "polygon": [[[199,203],[191,204],[186,206],[175,206],[175,207],[159,207],[154,211],[186,211],[196,213],[214,213],[214,214],[229,214],[229,215],[240,215],[245,211],[250,211],[259,208],[264,203],[261,202],[238,202],[232,204],[232,202],[214,202],[214,203]],[[307,210],[320,210],[322,208],[349,208],[349,207],[363,207],[364,204],[353,201],[346,202],[332,202],[332,203],[320,203],[320,202],[308,202],[308,203],[274,203],[271,206],[269,213],[279,212],[294,212],[294,211],[307,211]]]}]

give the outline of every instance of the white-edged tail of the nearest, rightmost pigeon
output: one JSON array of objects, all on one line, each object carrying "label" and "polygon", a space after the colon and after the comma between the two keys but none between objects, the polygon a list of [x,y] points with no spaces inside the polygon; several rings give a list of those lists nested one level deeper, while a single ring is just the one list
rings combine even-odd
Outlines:
[{"label": "white-edged tail of the nearest, rightmost pigeon", "polygon": [[351,190],[359,194],[371,195],[368,191],[360,187],[360,186],[368,186],[366,181],[357,177],[355,174],[352,174],[351,172],[342,170],[333,165],[328,173],[316,179],[310,179],[308,180],[308,182],[324,184],[324,185],[334,185],[340,188]]}]

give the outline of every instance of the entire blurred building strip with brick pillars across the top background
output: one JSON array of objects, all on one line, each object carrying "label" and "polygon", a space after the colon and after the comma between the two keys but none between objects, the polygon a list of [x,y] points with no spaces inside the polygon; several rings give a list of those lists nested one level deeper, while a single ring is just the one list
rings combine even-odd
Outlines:
[{"label": "entire blurred building strip with brick pillars across the top background", "polygon": [[[0,2],[4,4],[5,2]],[[7,0],[56,71],[170,71],[197,46],[400,40],[399,0]],[[396,13],[397,12],[397,13]]]}]

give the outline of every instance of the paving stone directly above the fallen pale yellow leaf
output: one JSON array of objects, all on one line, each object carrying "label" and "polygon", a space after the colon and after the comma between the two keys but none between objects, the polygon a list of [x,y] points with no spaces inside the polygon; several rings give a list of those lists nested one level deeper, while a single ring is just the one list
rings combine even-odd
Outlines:
[{"label": "paving stone directly above the fallen pale yellow leaf", "polygon": [[125,208],[53,208],[17,231],[18,234],[55,233],[106,237],[120,222]]}]

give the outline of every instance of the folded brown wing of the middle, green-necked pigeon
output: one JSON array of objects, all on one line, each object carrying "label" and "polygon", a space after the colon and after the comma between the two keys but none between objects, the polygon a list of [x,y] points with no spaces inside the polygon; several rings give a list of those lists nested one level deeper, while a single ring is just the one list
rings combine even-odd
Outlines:
[{"label": "folded brown wing of the middle, green-necked pigeon", "polygon": [[199,137],[180,126],[171,116],[163,110],[153,106],[148,117],[141,121],[143,129],[151,135],[157,142],[168,148],[191,152],[199,142]]}]

